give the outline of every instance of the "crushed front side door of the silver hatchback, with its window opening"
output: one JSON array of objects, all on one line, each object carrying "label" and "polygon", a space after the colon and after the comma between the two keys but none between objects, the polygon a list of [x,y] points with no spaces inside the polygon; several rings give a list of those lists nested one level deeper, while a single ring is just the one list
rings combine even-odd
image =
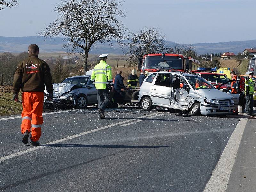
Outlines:
[{"label": "crushed front side door of the silver hatchback, with its window opening", "polygon": [[190,102],[188,83],[181,76],[175,75],[173,78],[174,101],[178,105],[188,106]]}]

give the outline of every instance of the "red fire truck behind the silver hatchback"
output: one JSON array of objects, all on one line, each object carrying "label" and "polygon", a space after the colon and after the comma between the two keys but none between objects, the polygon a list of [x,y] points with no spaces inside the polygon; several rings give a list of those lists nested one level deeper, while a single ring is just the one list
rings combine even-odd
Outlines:
[{"label": "red fire truck behind the silver hatchback", "polygon": [[158,70],[191,71],[199,66],[198,60],[177,54],[146,54],[138,60],[138,69],[144,69],[149,73]]}]

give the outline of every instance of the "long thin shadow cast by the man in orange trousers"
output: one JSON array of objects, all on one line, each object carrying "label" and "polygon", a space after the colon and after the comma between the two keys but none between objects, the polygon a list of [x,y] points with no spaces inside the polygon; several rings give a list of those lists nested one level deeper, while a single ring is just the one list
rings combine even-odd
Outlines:
[{"label": "long thin shadow cast by the man in orange trousers", "polygon": [[40,145],[46,147],[95,147],[95,148],[164,148],[171,146],[141,146],[141,145],[81,145],[81,144],[51,144],[51,145]]}]

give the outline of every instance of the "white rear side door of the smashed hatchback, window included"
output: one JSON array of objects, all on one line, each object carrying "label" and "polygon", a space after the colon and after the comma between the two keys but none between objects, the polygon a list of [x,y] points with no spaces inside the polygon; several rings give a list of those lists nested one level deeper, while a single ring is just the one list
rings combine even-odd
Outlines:
[{"label": "white rear side door of the smashed hatchback, window included", "polygon": [[170,74],[158,73],[154,84],[150,87],[152,102],[154,104],[170,105],[171,92]]}]

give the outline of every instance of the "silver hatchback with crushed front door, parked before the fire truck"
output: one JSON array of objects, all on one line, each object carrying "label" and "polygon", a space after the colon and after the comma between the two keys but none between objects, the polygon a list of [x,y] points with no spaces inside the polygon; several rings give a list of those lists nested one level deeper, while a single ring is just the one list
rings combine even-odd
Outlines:
[{"label": "silver hatchback with crushed front door, parked before the fire truck", "polygon": [[233,98],[196,74],[159,71],[146,77],[138,100],[145,111],[159,106],[190,115],[226,115],[234,110]]}]

